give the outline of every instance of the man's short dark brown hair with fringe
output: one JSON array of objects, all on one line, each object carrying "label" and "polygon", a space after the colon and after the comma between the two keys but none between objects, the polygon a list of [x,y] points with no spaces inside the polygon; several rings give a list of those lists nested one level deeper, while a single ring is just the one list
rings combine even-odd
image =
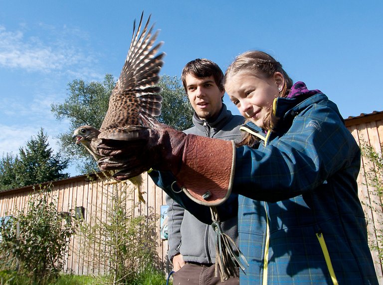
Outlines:
[{"label": "man's short dark brown hair with fringe", "polygon": [[184,88],[186,93],[188,93],[186,86],[186,76],[191,73],[194,77],[204,78],[213,76],[215,84],[217,84],[219,90],[223,91],[225,88],[223,87],[223,72],[219,68],[218,64],[208,60],[206,58],[196,58],[190,62],[188,62],[184,69],[182,70],[182,84],[184,84]]}]

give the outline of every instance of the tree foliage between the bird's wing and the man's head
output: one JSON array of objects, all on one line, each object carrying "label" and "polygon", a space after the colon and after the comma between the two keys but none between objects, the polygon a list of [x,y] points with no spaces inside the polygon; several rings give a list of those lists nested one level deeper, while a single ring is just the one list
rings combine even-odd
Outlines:
[{"label": "tree foliage between the bird's wing and the man's head", "polygon": [[163,75],[158,84],[162,88],[162,112],[158,120],[177,130],[192,127],[193,109],[185,93],[184,86],[177,76]]}]

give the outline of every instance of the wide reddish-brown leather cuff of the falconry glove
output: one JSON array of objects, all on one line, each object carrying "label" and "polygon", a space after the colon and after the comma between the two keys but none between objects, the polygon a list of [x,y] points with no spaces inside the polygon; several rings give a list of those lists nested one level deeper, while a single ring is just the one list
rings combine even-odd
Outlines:
[{"label": "wide reddish-brown leather cuff of the falconry glove", "polygon": [[183,164],[176,177],[194,202],[217,206],[230,196],[234,169],[234,142],[188,135]]}]

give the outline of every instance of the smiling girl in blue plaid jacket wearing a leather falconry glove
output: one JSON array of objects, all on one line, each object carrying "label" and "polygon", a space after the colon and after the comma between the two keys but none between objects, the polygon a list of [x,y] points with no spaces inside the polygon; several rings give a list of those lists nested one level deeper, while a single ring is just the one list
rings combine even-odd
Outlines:
[{"label": "smiling girl in blue plaid jacket wearing a leather falconry glove", "polygon": [[[236,57],[224,87],[247,119],[239,146],[154,122],[139,131],[146,143],[101,146],[112,157],[100,168],[123,169],[120,180],[135,169],[172,172],[173,180],[161,172],[152,178],[205,222],[192,201],[218,205],[239,194],[239,249],[249,263],[240,284],[378,284],[358,198],[360,149],[336,104],[293,84],[260,51]],[[228,201],[217,207],[221,218]]]}]

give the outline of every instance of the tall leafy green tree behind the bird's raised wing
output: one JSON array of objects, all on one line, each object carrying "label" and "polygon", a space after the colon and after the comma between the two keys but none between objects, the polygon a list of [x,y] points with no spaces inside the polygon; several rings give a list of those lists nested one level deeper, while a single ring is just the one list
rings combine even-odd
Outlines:
[{"label": "tall leafy green tree behind the bird's raised wing", "polygon": [[[191,127],[192,107],[180,79],[163,75],[158,85],[163,96],[162,115],[158,119],[179,130]],[[80,173],[91,173],[98,170],[97,164],[84,147],[74,144],[72,134],[81,125],[101,126],[115,80],[106,74],[103,82],[73,80],[68,86],[69,95],[64,103],[51,106],[58,120],[67,119],[70,123],[69,130],[59,135],[60,147]]]}]

